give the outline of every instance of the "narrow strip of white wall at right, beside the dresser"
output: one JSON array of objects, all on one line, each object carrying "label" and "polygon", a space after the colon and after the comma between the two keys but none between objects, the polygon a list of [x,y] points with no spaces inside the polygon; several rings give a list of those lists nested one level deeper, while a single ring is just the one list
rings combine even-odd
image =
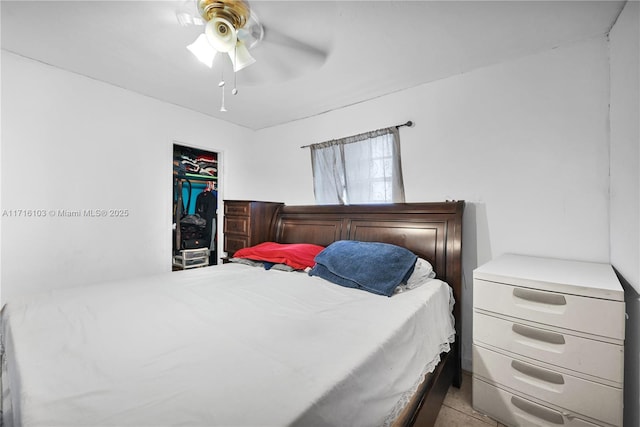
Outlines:
[{"label": "narrow strip of white wall at right, beside the dresser", "polygon": [[626,286],[625,426],[640,425],[640,6],[611,29],[611,263]]}]

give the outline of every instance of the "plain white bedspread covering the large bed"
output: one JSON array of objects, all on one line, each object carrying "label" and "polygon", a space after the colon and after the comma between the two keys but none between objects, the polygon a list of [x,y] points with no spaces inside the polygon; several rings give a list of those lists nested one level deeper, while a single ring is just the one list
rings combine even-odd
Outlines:
[{"label": "plain white bedspread covering the large bed", "polygon": [[383,425],[449,349],[450,303],[239,264],[16,299],[5,426]]}]

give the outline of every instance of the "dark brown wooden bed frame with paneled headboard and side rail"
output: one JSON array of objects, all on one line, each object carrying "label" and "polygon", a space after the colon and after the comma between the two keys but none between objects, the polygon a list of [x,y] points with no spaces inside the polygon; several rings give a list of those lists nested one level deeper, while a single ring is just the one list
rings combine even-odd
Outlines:
[{"label": "dark brown wooden bed frame with paneled headboard and side rail", "polygon": [[[460,302],[462,296],[463,201],[351,206],[282,206],[271,221],[271,240],[315,243],[337,240],[392,243],[428,260],[437,277],[453,288],[456,342],[429,375],[396,426],[432,426],[451,384],[462,381]],[[265,219],[267,220],[267,219]]]}]

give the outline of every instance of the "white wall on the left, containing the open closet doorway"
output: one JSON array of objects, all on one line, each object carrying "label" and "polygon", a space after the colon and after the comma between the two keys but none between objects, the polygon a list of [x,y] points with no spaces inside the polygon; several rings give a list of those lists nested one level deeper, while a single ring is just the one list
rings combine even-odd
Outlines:
[{"label": "white wall on the left, containing the open closet doorway", "polygon": [[[169,271],[174,139],[222,153],[225,195],[246,187],[252,131],[5,51],[2,124],[3,300]],[[129,215],[58,215],[85,209]]]}]

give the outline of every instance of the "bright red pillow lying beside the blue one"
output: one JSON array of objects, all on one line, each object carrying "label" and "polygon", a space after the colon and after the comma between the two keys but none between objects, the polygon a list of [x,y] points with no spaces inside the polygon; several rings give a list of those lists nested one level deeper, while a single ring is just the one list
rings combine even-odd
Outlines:
[{"label": "bright red pillow lying beside the blue one", "polygon": [[296,270],[304,270],[307,267],[314,266],[315,256],[323,249],[323,246],[310,243],[264,242],[240,249],[233,254],[233,257],[267,261],[273,264],[286,264]]}]

